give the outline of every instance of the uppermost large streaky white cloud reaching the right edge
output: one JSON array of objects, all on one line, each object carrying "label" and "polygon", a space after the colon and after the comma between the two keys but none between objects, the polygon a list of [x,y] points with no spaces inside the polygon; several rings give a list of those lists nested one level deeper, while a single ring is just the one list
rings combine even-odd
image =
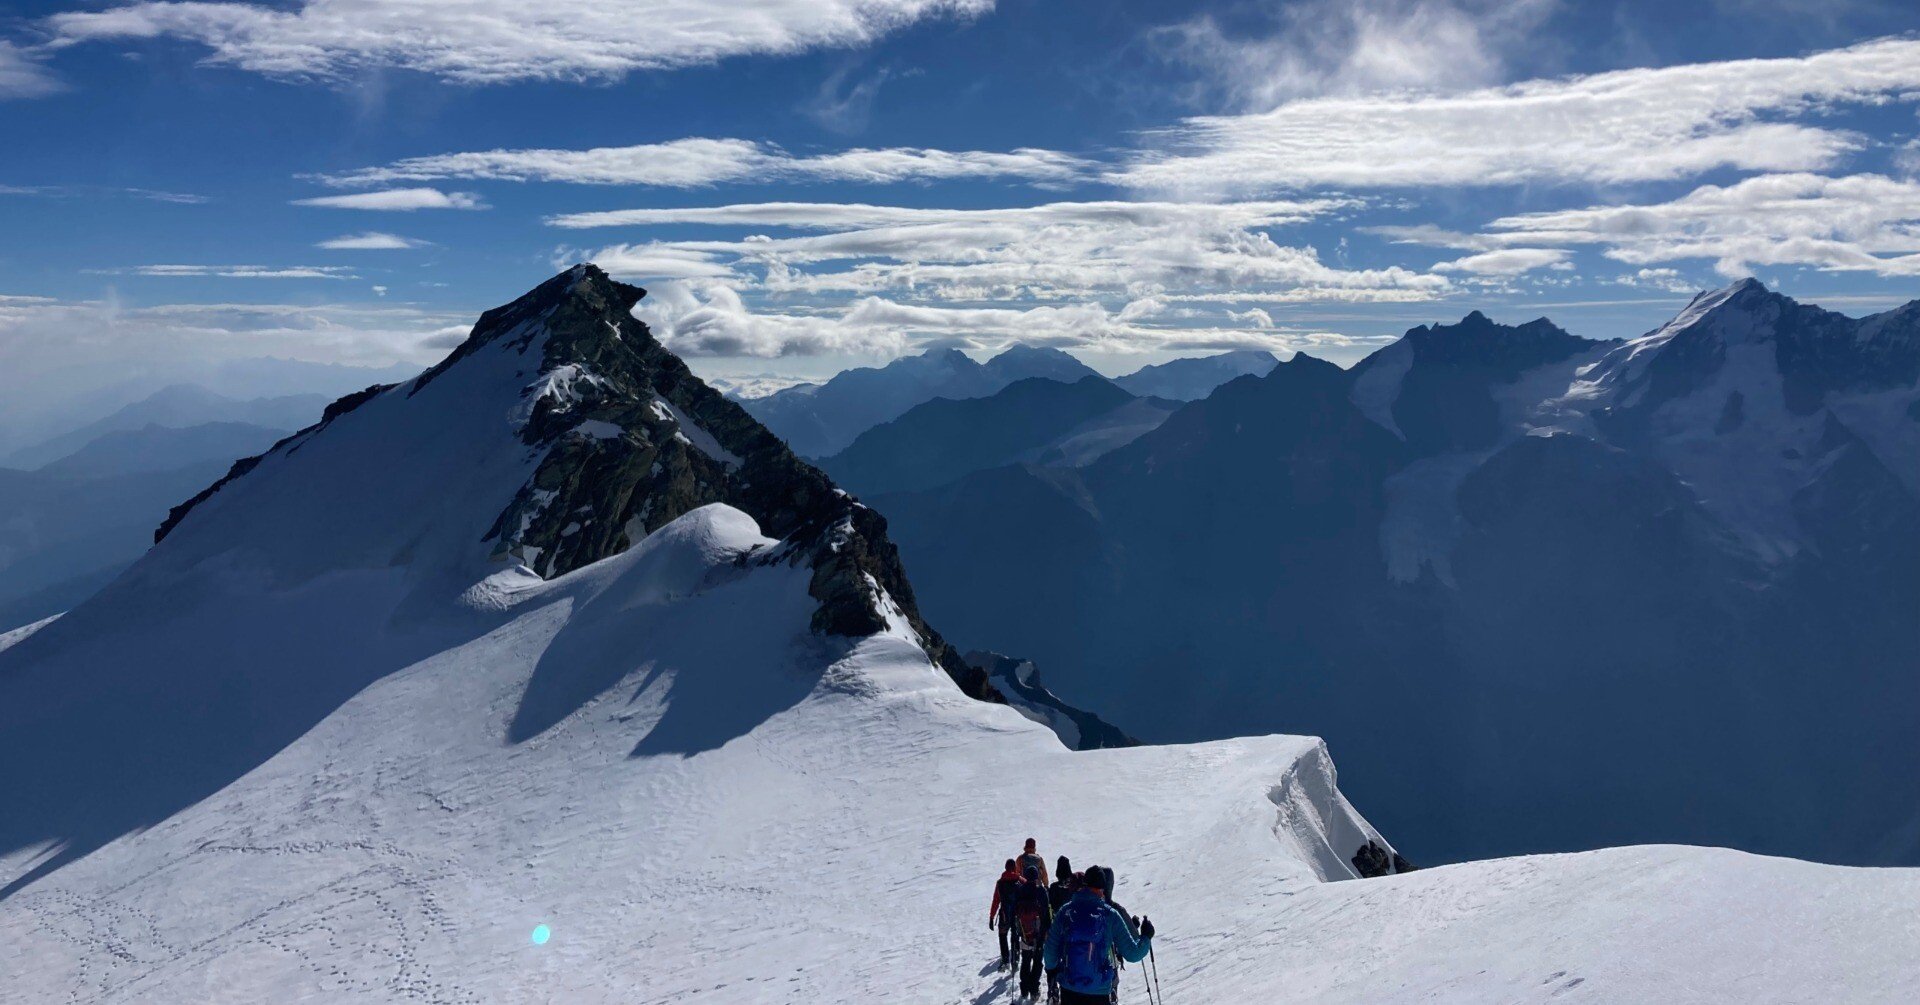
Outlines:
[{"label": "uppermost large streaky white cloud reaching the right edge", "polygon": [[1732,60],[1526,81],[1455,94],[1286,102],[1187,119],[1112,177],[1160,192],[1309,186],[1632,183],[1716,167],[1811,171],[1862,138],[1772,121],[1920,92],[1920,38],[1788,60]]}]

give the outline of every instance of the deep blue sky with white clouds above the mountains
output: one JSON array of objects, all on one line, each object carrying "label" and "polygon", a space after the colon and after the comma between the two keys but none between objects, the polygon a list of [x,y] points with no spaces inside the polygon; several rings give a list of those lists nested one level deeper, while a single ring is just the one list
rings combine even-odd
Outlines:
[{"label": "deep blue sky with white clouds above the mountains", "polygon": [[0,369],[426,363],[582,257],[735,379],[1010,340],[1352,363],[1473,307],[1630,336],[1747,273],[1866,313],[1920,290],[1914,31],[1866,0],[36,0],[0,15]]}]

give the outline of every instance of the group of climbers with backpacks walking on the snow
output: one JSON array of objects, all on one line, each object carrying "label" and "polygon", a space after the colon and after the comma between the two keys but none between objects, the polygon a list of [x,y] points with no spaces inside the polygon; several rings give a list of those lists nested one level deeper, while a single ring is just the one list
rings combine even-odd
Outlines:
[{"label": "group of climbers with backpacks walking on the snow", "polygon": [[1146,959],[1154,922],[1135,919],[1114,901],[1114,870],[1089,865],[1083,872],[1060,855],[1052,880],[1046,861],[1027,838],[1018,859],[993,884],[989,928],[1000,934],[1000,968],[1020,972],[1020,997],[1058,1005],[1117,1001],[1119,967]]}]

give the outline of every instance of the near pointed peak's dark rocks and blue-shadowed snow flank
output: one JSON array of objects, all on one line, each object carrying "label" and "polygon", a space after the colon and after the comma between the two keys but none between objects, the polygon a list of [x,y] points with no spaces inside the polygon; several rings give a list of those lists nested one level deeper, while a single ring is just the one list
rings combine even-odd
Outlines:
[{"label": "near pointed peak's dark rocks and blue-shadowed snow flank", "polygon": [[[0,849],[56,869],[217,792],[367,684],[461,644],[501,569],[555,576],[728,503],[806,569],[810,626],[927,626],[885,523],[693,379],[632,319],[641,296],[574,269],[488,311],[445,363],[326,407],[175,507],[159,544],[0,653]],[[513,740],[564,715],[530,701]],[[102,742],[96,742],[102,740]]]}]

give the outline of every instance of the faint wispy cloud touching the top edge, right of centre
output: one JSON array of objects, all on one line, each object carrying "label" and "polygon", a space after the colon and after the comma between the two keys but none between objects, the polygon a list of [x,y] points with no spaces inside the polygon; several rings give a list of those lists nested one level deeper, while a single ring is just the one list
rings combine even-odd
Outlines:
[{"label": "faint wispy cloud touching the top edge, right of centre", "polygon": [[1154,52],[1202,79],[1196,100],[1267,111],[1302,96],[1463,88],[1503,77],[1505,50],[1557,0],[1300,0],[1271,8],[1252,33],[1202,13],[1154,29]]}]

